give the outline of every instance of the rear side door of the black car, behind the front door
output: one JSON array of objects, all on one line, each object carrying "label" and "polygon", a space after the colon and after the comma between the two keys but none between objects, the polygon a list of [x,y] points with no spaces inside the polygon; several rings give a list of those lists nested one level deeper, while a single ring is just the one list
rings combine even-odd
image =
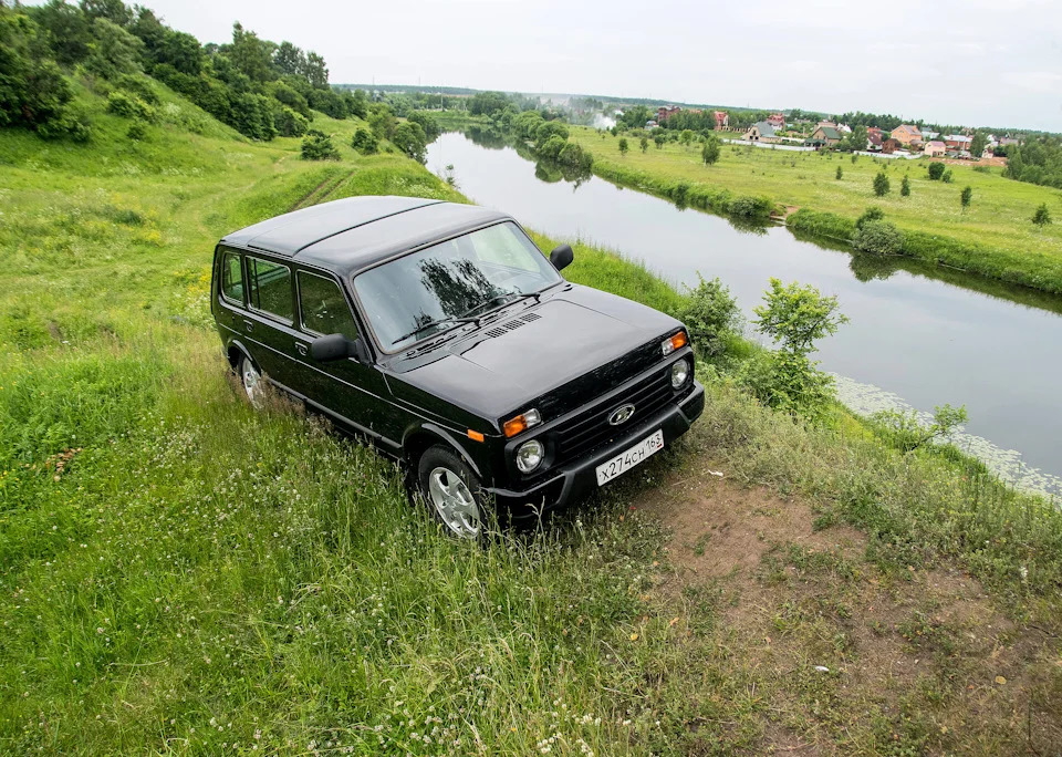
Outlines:
[{"label": "rear side door of the black car, behind the front door", "polygon": [[246,253],[248,310],[243,318],[243,342],[251,357],[275,383],[299,388],[295,328],[295,298],[291,266]]}]

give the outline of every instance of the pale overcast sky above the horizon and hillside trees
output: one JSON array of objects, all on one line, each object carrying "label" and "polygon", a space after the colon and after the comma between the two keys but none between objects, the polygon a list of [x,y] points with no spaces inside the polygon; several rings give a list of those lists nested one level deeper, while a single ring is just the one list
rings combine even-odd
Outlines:
[{"label": "pale overcast sky above the horizon and hillside trees", "polygon": [[144,0],[208,42],[240,21],[332,83],[449,84],[1062,131],[1062,2]]}]

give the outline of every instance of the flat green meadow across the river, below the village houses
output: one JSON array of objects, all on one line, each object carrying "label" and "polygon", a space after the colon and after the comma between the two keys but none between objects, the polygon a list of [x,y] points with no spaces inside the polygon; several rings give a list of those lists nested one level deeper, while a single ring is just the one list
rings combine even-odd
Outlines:
[{"label": "flat green meadow across the river, below the village houses", "polygon": [[[650,142],[643,154],[632,141],[631,152],[622,156],[620,138],[611,134],[572,127],[571,138],[594,154],[595,173],[650,191],[657,189],[655,183],[684,180],[732,195],[762,196],[790,208],[836,214],[848,221],[877,206],[887,220],[919,235],[918,257],[933,260],[936,253],[952,266],[1062,293],[1062,225],[1041,229],[1030,220],[1042,203],[1053,217],[1062,218],[1062,191],[1004,179],[999,168],[949,166],[955,179],[944,184],[928,178],[928,160],[858,156],[852,163],[848,156],[832,153],[723,145],[719,162],[709,167],[696,146],[667,143],[657,148]],[[835,178],[839,166],[841,179]],[[882,168],[892,184],[884,198],[872,187]],[[899,195],[905,173],[910,177],[909,197]],[[966,186],[972,188],[974,199],[964,210],[959,194]]]}]

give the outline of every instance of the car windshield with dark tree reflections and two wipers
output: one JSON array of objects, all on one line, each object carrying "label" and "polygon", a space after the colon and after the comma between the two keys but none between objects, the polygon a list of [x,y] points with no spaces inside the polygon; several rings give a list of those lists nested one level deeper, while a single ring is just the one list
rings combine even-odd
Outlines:
[{"label": "car windshield with dark tree reflections and two wipers", "polygon": [[354,290],[381,345],[393,352],[561,280],[507,221],[365,271],[354,278]]}]

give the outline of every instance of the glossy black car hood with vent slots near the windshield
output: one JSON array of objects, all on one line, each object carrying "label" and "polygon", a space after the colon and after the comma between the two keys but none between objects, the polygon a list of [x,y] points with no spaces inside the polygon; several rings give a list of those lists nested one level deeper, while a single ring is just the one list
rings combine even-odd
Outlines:
[{"label": "glossy black car hood with vent slots near the windshield", "polygon": [[656,344],[679,325],[637,302],[569,284],[396,364],[393,391],[417,404],[428,395],[490,421],[532,404],[555,417],[658,361]]}]

